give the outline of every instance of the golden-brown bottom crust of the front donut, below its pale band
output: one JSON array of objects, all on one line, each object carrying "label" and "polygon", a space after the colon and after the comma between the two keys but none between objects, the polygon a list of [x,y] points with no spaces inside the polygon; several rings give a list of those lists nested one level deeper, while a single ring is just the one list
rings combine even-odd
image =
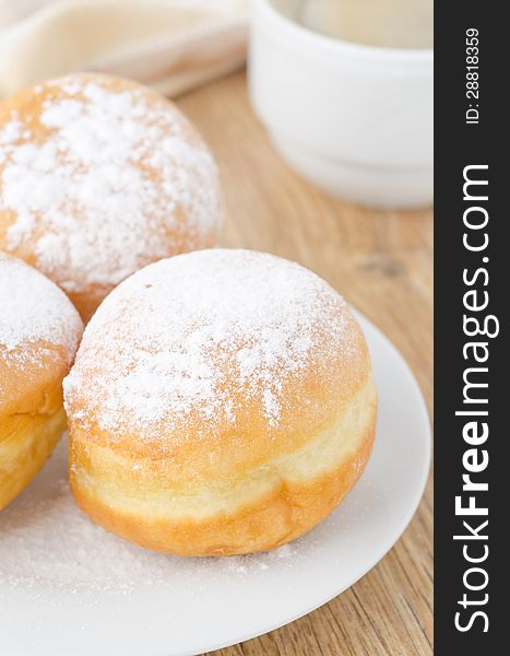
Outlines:
[{"label": "golden-brown bottom crust of the front donut, below its pale band", "polygon": [[[306,482],[281,481],[271,492],[235,513],[206,520],[168,522],[119,512],[81,485],[71,470],[71,490],[80,507],[104,528],[155,551],[177,555],[235,555],[275,549],[311,530],[324,519],[358,480],[369,459],[375,422],[355,454]],[[81,445],[73,442],[73,469],[86,467]],[[141,493],[143,491],[141,490]]]}]

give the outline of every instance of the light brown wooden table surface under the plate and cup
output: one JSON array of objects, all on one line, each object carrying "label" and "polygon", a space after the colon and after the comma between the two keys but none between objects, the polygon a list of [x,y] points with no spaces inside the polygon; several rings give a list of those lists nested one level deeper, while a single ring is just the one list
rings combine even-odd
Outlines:
[{"label": "light brown wooden table surface under the plate and cup", "polygon": [[[236,73],[182,96],[220,165],[222,245],[266,250],[328,280],[401,350],[431,406],[431,211],[377,212],[322,194],[273,150]],[[432,496],[388,555],[315,612],[215,656],[430,655]]]}]

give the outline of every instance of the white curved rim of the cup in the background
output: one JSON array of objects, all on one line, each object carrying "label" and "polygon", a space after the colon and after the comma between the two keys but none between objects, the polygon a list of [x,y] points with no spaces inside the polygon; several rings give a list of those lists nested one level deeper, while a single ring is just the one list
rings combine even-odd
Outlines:
[{"label": "white curved rim of the cup in the background", "polygon": [[257,0],[257,8],[264,11],[266,16],[277,24],[282,30],[286,31],[292,38],[300,38],[308,42],[322,50],[342,52],[364,58],[383,57],[392,62],[406,62],[417,65],[431,65],[434,59],[434,48],[393,48],[386,46],[368,46],[366,44],[357,44],[325,34],[320,34],[296,23],[280,12],[273,4],[272,0]]}]

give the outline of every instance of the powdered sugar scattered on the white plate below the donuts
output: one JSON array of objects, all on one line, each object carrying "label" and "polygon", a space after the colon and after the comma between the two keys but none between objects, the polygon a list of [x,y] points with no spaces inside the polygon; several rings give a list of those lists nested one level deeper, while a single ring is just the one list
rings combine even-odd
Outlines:
[{"label": "powdered sugar scattered on the white plate below the donuts", "polygon": [[[301,541],[246,557],[168,557],[137,547],[93,524],[76,506],[67,477],[67,440],[32,485],[0,514],[0,587],[129,594],[142,586],[192,585],[203,574],[244,576],[289,565]],[[309,541],[309,538],[308,538]]]}]

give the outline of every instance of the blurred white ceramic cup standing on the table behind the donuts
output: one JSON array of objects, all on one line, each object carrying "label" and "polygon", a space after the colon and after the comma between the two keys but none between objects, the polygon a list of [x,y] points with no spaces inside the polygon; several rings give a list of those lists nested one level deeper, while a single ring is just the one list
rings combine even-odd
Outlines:
[{"label": "blurred white ceramic cup standing on the table behind the donuts", "polygon": [[363,204],[432,202],[432,50],[365,46],[256,0],[249,86],[290,166]]}]

